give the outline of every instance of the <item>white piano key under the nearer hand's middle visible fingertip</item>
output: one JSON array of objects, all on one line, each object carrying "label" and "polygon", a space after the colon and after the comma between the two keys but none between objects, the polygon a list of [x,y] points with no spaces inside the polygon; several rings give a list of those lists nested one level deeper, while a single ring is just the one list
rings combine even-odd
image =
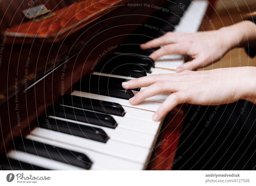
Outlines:
[{"label": "white piano key under the nearer hand's middle visible fingertip", "polygon": [[92,93],[81,92],[81,91],[76,91],[76,90],[73,91],[71,93],[71,95],[80,96],[80,97],[88,97],[88,98],[92,98],[92,99],[101,99],[103,101],[110,101],[110,102],[114,102],[114,103],[119,103],[122,106],[128,106],[128,107],[142,109],[142,110],[146,110],[146,111],[152,111],[152,112],[156,112],[158,107],[162,104],[162,103],[159,103],[159,102],[144,100],[138,105],[131,105],[129,103],[129,101],[126,100],[126,99],[102,96],[102,95],[98,95],[98,94],[92,94]]}]

